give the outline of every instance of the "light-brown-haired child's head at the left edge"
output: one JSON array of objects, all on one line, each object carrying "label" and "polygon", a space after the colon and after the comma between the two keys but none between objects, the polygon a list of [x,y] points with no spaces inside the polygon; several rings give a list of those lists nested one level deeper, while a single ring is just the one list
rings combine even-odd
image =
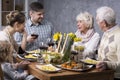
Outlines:
[{"label": "light-brown-haired child's head at the left edge", "polygon": [[12,61],[13,49],[7,41],[0,41],[0,63]]}]

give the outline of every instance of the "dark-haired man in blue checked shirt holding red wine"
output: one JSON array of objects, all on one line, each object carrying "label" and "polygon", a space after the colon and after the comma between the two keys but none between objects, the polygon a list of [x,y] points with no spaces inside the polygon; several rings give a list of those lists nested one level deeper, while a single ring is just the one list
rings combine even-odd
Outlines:
[{"label": "dark-haired man in blue checked shirt holding red wine", "polygon": [[[26,50],[34,50],[39,48],[40,42],[46,42],[48,38],[52,38],[54,28],[51,23],[44,20],[44,7],[39,2],[30,4],[30,18],[26,21],[25,30],[28,34]],[[34,35],[38,35],[37,37]],[[16,33],[15,40],[21,43],[22,35]]]}]

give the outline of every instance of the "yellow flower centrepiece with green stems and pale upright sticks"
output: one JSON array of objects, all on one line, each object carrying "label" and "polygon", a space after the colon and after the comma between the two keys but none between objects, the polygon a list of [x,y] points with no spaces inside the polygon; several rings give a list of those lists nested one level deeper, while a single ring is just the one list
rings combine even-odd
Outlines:
[{"label": "yellow flower centrepiece with green stems and pale upright sticks", "polygon": [[57,32],[53,35],[53,40],[58,43],[55,52],[61,54],[61,58],[59,58],[60,60],[58,61],[63,63],[70,60],[71,46],[73,43],[81,41],[82,39],[77,38],[76,35],[72,32],[68,34]]}]

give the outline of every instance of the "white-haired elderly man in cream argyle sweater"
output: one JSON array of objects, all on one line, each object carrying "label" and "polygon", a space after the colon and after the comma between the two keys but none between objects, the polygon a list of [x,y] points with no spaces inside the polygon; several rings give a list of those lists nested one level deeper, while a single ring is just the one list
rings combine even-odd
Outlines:
[{"label": "white-haired elderly man in cream argyle sweater", "polygon": [[96,20],[104,31],[98,49],[96,68],[115,70],[115,80],[120,80],[120,26],[116,24],[116,15],[112,8],[104,6],[96,11]]}]

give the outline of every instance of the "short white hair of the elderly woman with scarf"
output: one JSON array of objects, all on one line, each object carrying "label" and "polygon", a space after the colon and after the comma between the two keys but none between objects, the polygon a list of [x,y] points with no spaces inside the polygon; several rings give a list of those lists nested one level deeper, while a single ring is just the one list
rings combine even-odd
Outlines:
[{"label": "short white hair of the elderly woman with scarf", "polygon": [[83,12],[83,13],[80,13],[77,15],[76,17],[76,21],[84,21],[88,26],[88,28],[93,28],[93,24],[94,24],[94,21],[93,21],[93,16],[88,13],[88,12]]}]

